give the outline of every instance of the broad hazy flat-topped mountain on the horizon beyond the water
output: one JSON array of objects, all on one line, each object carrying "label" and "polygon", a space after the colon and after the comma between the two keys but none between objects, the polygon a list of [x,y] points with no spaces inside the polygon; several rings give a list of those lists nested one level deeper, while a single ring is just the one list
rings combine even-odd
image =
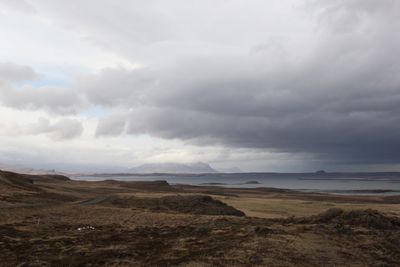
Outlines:
[{"label": "broad hazy flat-topped mountain on the horizon beyond the water", "polygon": [[216,173],[207,163],[148,163],[131,168],[134,173]]}]

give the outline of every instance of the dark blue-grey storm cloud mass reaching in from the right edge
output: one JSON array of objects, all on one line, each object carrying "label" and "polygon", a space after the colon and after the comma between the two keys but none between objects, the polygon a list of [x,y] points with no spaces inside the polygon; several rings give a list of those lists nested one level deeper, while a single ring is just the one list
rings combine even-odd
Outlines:
[{"label": "dark blue-grey storm cloud mass reaching in from the right edge", "polygon": [[[97,104],[114,101],[125,108],[131,134],[308,152],[344,162],[396,163],[400,9],[396,1],[379,3],[315,4],[319,30],[327,33],[301,62],[254,51],[198,57],[157,71],[102,73],[90,78],[93,83],[107,76],[108,83],[122,85],[99,85],[96,94],[90,89],[86,94]],[[106,120],[100,135],[125,129],[115,127],[112,117]],[[121,117],[115,120],[122,124]]]}]

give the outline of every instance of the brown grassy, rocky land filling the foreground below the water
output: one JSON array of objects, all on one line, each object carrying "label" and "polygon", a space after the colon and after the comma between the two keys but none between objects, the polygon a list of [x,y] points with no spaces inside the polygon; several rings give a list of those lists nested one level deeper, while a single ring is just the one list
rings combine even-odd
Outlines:
[{"label": "brown grassy, rocky land filling the foreground below the water", "polygon": [[0,172],[0,265],[400,266],[398,210],[393,197]]}]

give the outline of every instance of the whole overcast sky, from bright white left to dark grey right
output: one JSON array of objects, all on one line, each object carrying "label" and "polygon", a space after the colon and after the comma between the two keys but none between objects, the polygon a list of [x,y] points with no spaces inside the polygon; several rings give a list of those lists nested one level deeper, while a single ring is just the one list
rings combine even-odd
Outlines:
[{"label": "whole overcast sky, from bright white left to dark grey right", "polygon": [[0,0],[0,164],[400,171],[398,0]]}]

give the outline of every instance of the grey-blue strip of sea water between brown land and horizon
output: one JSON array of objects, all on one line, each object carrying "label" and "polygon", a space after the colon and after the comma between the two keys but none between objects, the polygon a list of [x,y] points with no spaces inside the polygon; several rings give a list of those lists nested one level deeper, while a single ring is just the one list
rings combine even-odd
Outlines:
[{"label": "grey-blue strip of sea water between brown land and horizon", "polygon": [[215,174],[153,174],[153,175],[86,175],[76,180],[165,180],[170,184],[223,186],[239,188],[272,187],[307,192],[335,194],[400,194],[400,174],[281,174],[281,173],[215,173]]}]

